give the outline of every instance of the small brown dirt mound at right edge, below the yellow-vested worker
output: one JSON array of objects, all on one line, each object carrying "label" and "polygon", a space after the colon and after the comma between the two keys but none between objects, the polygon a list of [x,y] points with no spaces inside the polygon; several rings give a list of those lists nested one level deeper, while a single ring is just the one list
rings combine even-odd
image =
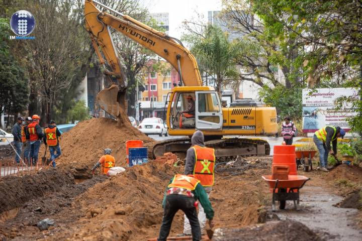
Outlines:
[{"label": "small brown dirt mound at right edge, below the yellow-vested worker", "polygon": [[335,181],[338,179],[348,179],[352,182],[362,182],[362,168],[353,165],[342,164],[328,173],[326,179]]}]

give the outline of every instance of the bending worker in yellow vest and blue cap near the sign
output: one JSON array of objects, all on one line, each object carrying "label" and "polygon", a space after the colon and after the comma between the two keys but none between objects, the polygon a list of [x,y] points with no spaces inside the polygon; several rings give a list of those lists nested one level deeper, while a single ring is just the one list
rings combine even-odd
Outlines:
[{"label": "bending worker in yellow vest and blue cap near the sign", "polygon": [[[320,170],[328,172],[328,154],[337,154],[337,138],[343,139],[345,131],[340,127],[326,126],[314,133],[313,141],[319,151]],[[330,146],[332,142],[332,148]],[[333,149],[333,150],[332,150]]]}]

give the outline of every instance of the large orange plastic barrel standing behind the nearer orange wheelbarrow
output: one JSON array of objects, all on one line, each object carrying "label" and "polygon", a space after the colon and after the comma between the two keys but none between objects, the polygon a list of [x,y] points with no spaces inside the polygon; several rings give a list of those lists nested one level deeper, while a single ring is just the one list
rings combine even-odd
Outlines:
[{"label": "large orange plastic barrel standing behind the nearer orange wheelbarrow", "polygon": [[289,166],[289,175],[298,175],[295,146],[274,146],[273,165]]}]

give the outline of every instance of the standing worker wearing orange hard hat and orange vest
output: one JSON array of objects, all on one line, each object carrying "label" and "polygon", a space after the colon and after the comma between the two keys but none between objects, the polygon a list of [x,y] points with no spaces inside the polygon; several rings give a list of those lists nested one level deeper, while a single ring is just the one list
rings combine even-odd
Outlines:
[{"label": "standing worker wearing orange hard hat and orange vest", "polygon": [[40,140],[43,138],[43,132],[39,126],[40,117],[37,114],[32,116],[33,122],[28,125],[26,129],[30,139],[30,158],[32,159],[33,165],[38,162],[38,153],[40,148]]}]

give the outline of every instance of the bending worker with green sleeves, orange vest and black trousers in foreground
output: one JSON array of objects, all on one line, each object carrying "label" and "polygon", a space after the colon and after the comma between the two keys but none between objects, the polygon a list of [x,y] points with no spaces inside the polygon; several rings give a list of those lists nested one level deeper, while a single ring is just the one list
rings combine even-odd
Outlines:
[{"label": "bending worker with green sleeves, orange vest and black trousers in foreground", "polygon": [[212,228],[214,210],[200,181],[193,177],[193,175],[176,174],[171,178],[162,202],[162,207],[164,208],[163,218],[157,240],[166,241],[173,216],[179,209],[185,212],[185,215],[190,220],[193,240],[201,240],[201,229],[196,210],[198,206],[196,202],[198,200],[203,206],[206,217],[209,219],[210,228]]}]

